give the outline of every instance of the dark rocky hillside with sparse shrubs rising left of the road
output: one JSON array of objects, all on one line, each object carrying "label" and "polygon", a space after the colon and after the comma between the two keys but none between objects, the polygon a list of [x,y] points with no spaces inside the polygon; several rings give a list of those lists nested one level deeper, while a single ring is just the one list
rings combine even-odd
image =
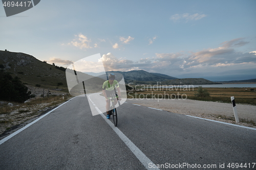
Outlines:
[{"label": "dark rocky hillside with sparse shrubs rising left of the road", "polygon": [[65,71],[28,54],[0,51],[0,69],[25,84],[67,87]]}]

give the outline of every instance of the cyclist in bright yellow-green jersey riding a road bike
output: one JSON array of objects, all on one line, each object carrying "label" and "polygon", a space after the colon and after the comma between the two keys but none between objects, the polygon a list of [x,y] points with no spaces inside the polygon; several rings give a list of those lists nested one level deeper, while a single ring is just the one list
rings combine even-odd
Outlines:
[{"label": "cyclist in bright yellow-green jersey riding a road bike", "polygon": [[[121,92],[119,88],[118,82],[115,80],[116,76],[115,74],[111,73],[109,75],[109,80],[105,81],[102,85],[102,91],[103,95],[106,100],[106,118],[110,118],[109,110],[110,110],[110,96],[111,94],[115,93],[114,87],[117,89],[118,99],[121,101]],[[114,99],[114,105],[117,104],[117,98]]]}]

